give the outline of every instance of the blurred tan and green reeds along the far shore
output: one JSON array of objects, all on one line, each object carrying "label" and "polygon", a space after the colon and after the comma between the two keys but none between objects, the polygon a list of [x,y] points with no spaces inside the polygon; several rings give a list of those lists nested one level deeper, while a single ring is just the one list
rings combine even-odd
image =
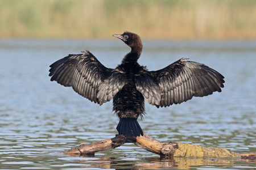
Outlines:
[{"label": "blurred tan and green reeds along the far shore", "polygon": [[255,39],[255,0],[0,0],[0,37]]}]

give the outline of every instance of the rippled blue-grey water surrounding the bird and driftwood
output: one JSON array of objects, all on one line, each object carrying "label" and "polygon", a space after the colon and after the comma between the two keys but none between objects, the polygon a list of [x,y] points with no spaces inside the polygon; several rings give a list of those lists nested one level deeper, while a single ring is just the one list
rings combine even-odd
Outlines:
[{"label": "rippled blue-grey water surrounding the bird and driftwood", "polygon": [[[129,52],[119,40],[0,41],[0,169],[255,169],[233,159],[174,158],[127,143],[74,157],[64,150],[113,138],[118,118],[72,88],[50,82],[49,65],[69,53],[90,50],[106,67]],[[146,104],[139,123],[160,141],[256,152],[256,41],[144,41],[139,63],[158,70],[185,57],[225,76],[221,93],[157,109]]]}]

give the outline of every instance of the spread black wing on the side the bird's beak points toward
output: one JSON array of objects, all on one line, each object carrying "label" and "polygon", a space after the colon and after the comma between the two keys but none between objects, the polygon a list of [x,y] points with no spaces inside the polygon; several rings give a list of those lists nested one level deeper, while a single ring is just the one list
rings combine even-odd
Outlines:
[{"label": "spread black wing on the side the bird's beak points toward", "polygon": [[125,83],[125,76],[119,70],[105,67],[89,51],[69,54],[50,67],[51,81],[72,87],[81,96],[100,105],[110,101]]}]

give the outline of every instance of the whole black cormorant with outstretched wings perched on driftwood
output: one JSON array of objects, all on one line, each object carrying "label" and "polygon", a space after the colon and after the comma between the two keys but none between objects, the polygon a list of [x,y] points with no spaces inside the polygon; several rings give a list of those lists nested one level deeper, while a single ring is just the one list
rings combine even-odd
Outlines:
[{"label": "whole black cormorant with outstretched wings perched on driftwood", "polygon": [[120,65],[105,67],[89,51],[69,54],[50,67],[49,76],[63,86],[102,105],[113,99],[119,117],[119,135],[143,135],[137,122],[145,113],[144,99],[156,107],[180,104],[193,96],[203,97],[224,87],[224,76],[198,62],[181,58],[158,71],[148,71],[137,62],[142,53],[141,38],[132,32],[113,35],[130,46]]}]

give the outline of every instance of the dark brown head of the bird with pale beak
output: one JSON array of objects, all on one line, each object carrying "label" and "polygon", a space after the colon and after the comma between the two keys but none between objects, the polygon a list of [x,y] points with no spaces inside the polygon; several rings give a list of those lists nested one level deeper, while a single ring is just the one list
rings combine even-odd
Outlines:
[{"label": "dark brown head of the bird with pale beak", "polygon": [[131,49],[139,48],[142,50],[141,37],[139,37],[136,33],[126,31],[123,32],[122,35],[114,34],[113,36],[125,42],[125,44],[130,46]]}]

